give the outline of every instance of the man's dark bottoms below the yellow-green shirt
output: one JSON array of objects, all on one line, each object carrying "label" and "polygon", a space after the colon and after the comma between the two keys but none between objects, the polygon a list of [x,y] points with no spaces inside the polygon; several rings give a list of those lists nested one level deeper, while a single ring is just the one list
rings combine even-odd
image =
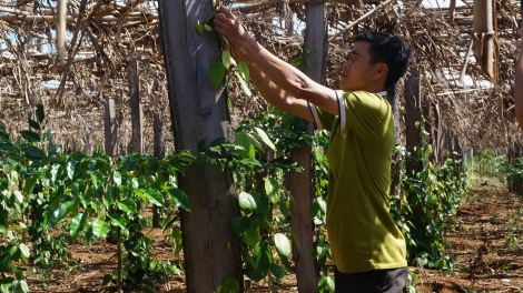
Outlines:
[{"label": "man's dark bottoms below the yellow-green shirt", "polygon": [[334,282],[339,293],[401,293],[408,280],[408,269],[374,270],[346,274],[334,267]]}]

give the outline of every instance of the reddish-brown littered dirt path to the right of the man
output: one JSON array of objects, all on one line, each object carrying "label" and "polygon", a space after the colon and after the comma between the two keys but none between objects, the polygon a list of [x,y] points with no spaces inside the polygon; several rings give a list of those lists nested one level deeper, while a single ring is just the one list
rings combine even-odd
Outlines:
[{"label": "reddish-brown littered dirt path to the right of the man", "polygon": [[446,238],[457,259],[456,272],[413,267],[421,292],[522,292],[522,200],[495,180],[477,182],[494,185],[476,184],[457,213],[456,232]]}]

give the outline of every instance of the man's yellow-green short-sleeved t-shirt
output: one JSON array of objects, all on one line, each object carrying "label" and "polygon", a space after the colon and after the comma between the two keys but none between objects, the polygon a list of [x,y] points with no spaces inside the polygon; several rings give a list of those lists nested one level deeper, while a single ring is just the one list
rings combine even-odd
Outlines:
[{"label": "man's yellow-green short-sleeved t-shirt", "polygon": [[312,107],[316,124],[330,130],[327,232],[334,263],[343,273],[406,266],[405,239],[388,212],[391,104],[365,91],[337,94],[339,115]]}]

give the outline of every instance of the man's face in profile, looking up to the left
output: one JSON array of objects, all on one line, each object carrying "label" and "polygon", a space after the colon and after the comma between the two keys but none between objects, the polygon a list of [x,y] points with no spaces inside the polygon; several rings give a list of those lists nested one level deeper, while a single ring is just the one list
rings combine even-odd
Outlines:
[{"label": "man's face in profile, looking up to the left", "polygon": [[339,88],[344,91],[369,90],[369,85],[375,82],[375,77],[379,67],[384,63],[371,64],[368,48],[371,43],[365,41],[356,42],[348,53],[347,61],[343,64]]}]

